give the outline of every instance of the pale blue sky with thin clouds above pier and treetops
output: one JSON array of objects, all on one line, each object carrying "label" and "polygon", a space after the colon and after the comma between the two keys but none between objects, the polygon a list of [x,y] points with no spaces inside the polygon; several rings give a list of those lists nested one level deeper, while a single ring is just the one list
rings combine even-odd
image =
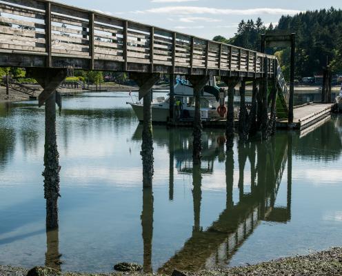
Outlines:
[{"label": "pale blue sky with thin clouds above pier and treetops", "polygon": [[342,8],[341,0],[232,1],[232,0],[59,0],[101,10],[116,17],[212,39],[217,34],[232,37],[241,19],[261,17],[277,23],[281,14],[320,8]]}]

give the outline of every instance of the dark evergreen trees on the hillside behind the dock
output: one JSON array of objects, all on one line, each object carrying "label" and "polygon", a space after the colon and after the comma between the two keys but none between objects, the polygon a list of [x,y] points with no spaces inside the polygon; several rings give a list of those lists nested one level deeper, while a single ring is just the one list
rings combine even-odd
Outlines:
[{"label": "dark evergreen trees on the hillside behind the dock", "polygon": [[[312,77],[330,66],[335,73],[342,72],[342,10],[313,10],[300,12],[294,16],[283,15],[274,27],[266,28],[261,18],[241,21],[234,37],[226,39],[214,37],[214,41],[230,43],[234,46],[260,50],[261,34],[268,32],[296,33],[297,79]],[[290,48],[272,48],[268,53],[276,55],[285,77],[290,73]]]}]

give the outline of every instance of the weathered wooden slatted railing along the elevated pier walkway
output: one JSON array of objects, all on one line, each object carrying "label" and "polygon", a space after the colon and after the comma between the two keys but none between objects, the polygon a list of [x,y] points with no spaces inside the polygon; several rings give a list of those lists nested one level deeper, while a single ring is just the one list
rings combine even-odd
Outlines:
[{"label": "weathered wooden slatted railing along the elevated pier walkway", "polygon": [[0,66],[262,77],[275,57],[45,0],[0,1]]}]

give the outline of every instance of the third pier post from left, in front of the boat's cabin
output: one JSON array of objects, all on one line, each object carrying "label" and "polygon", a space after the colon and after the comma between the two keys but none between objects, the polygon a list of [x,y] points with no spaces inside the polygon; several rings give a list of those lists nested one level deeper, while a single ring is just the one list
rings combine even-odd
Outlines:
[{"label": "third pier post from left, in front of the boat's cabin", "polygon": [[209,76],[191,75],[188,79],[192,83],[194,89],[194,129],[192,135],[193,139],[193,152],[192,157],[194,164],[200,164],[201,162],[201,150],[202,150],[202,121],[201,121],[201,91],[209,81]]}]

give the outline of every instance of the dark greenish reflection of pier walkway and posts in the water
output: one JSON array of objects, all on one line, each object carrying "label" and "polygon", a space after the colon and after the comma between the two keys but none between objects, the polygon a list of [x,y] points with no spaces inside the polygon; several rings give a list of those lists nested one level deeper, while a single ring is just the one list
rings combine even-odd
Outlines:
[{"label": "dark greenish reflection of pier walkway and posts in the water", "polygon": [[[171,273],[174,268],[200,270],[219,264],[225,266],[245,239],[253,233],[259,221],[268,220],[281,223],[288,221],[290,219],[290,202],[285,207],[274,206],[285,170],[287,152],[287,135],[277,135],[269,142],[252,142],[245,146],[240,145],[238,152],[239,168],[245,167],[247,158],[250,160],[252,187],[250,193],[243,193],[243,170],[239,170],[240,197],[239,202],[233,202],[234,153],[232,150],[228,150],[225,163],[226,208],[206,230],[201,229],[199,223],[201,186],[198,184],[201,183],[201,170],[194,166],[192,172],[194,231],[183,248],[159,268],[159,273]],[[291,171],[292,167],[289,166],[288,170]],[[257,181],[255,181],[256,178]]]}]

